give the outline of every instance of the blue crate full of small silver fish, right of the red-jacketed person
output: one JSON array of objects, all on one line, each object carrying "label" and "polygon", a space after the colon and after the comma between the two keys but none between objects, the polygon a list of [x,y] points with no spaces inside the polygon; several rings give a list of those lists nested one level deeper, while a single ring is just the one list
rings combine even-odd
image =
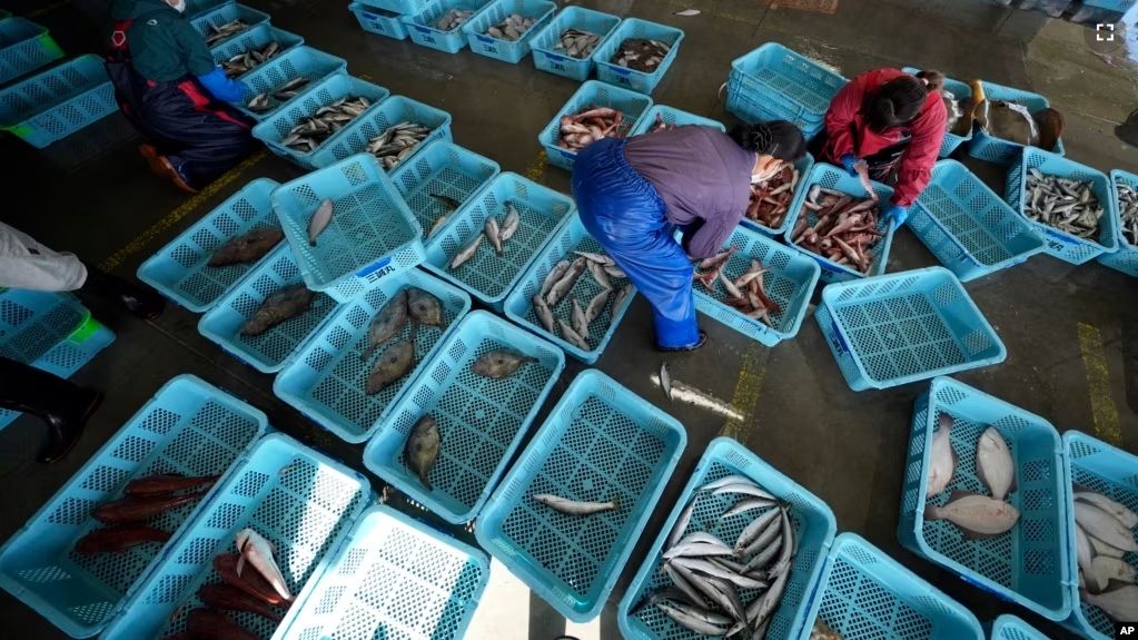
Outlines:
[{"label": "blue crate full of small silver fish, right of the red-jacketed person", "polygon": [[[1104,210],[1103,218],[1098,221],[1098,241],[1075,238],[1058,229],[1030,220],[1023,213],[1023,194],[1026,190],[1028,172],[1032,169],[1038,169],[1047,175],[1092,183],[1095,196]],[[1047,241],[1044,251],[1062,261],[1082,264],[1104,253],[1119,251],[1118,198],[1111,179],[1100,171],[1055,154],[1041,151],[1034,147],[1024,147],[1020,161],[1007,167],[1007,190],[1004,199],[1023,220],[1038,229],[1038,232]]]}]

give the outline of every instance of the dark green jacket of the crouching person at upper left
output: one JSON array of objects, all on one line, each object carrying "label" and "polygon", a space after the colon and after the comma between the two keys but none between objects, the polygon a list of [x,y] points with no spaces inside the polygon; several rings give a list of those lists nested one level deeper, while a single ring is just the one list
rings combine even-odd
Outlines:
[{"label": "dark green jacket of the crouching person at upper left", "polygon": [[126,46],[134,71],[147,80],[205,75],[216,66],[201,34],[165,0],[115,0],[110,17],[134,20],[126,31]]}]

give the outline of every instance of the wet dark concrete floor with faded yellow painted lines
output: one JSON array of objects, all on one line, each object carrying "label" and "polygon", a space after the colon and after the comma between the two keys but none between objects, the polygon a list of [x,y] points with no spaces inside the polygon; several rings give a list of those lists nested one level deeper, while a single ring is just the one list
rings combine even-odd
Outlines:
[{"label": "wet dark concrete floor with faded yellow painted lines", "polygon": [[[100,51],[107,2],[10,2],[8,9],[32,14],[48,26],[68,54]],[[456,143],[496,159],[503,170],[568,191],[568,174],[545,167],[536,136],[576,90],[576,82],[537,72],[529,59],[509,65],[469,50],[450,56],[410,41],[365,34],[344,0],[247,3],[271,13],[275,26],[303,34],[307,44],[346,58],[352,74],[365,74],[393,93],[448,110],[454,116]],[[1112,123],[1123,121],[1138,106],[1133,36],[1129,50],[1122,42],[1095,43],[1082,27],[972,0],[840,0],[833,15],[782,8],[766,0],[591,0],[582,5],[685,30],[679,57],[652,96],[659,104],[731,122],[716,96],[731,60],[777,41],[847,77],[881,66],[912,65],[939,68],[958,79],[979,76],[1031,89],[1065,114],[1070,157],[1103,171],[1138,170],[1138,153],[1112,134]],[[703,13],[687,18],[673,15],[686,7]],[[283,182],[302,173],[261,154],[232,180],[190,199],[147,172],[134,150],[137,140],[106,148],[123,137],[118,117],[46,151],[10,137],[0,140],[6,158],[6,205],[0,216],[49,246],[101,261],[131,277],[142,260],[247,181],[267,177]],[[1003,192],[999,167],[971,158],[965,162]],[[898,232],[890,272],[933,264],[935,259],[912,232]],[[959,379],[1046,417],[1061,432],[1098,433],[1138,451],[1138,282],[1097,263],[1073,268],[1038,256],[972,282],[967,289],[999,331],[1008,358]],[[197,315],[173,307],[157,322],[143,323],[115,309],[96,307],[94,313],[114,328],[118,339],[74,379],[105,391],[106,402],[82,442],[55,466],[32,461],[41,436],[35,420],[22,418],[0,432],[0,484],[5,487],[0,539],[16,532],[154,392],[183,372],[245,397],[264,410],[273,426],[362,470],[361,446],[340,442],[278,401],[270,376],[225,355],[197,333]],[[899,547],[896,527],[909,420],[913,401],[925,384],[851,392],[809,318],[795,339],[775,348],[749,342],[711,320],[704,319],[703,326],[711,338],[709,346],[670,358],[674,376],[733,400],[745,413],[742,422],[725,424],[698,409],[666,403],[650,379],[661,359],[650,348],[649,307],[642,298],[596,363],[682,420],[688,444],[649,524],[650,535],[643,536],[633,553],[599,631],[589,632],[593,637],[619,637],[612,604],[624,593],[707,443],[721,433],[745,443],[823,498],[838,517],[839,531],[864,535],[965,604],[981,621],[1014,613],[1048,635],[1069,637],[1056,625],[1003,604]],[[1107,379],[1092,366],[1097,358],[1105,361]],[[546,407],[552,407],[582,368],[570,361]],[[384,486],[379,478],[370,479],[374,489]],[[414,509],[394,492],[387,495],[401,508]],[[446,526],[429,514],[420,515]],[[468,532],[457,533],[472,540]],[[516,602],[495,602],[488,597],[486,606],[518,609]],[[0,612],[8,621],[5,626],[19,629],[20,637],[64,638],[7,593],[0,594]],[[564,620],[536,597],[530,597],[527,617],[528,623],[513,620],[511,624],[522,631],[528,624],[528,633],[519,638],[552,638],[564,630]]]}]

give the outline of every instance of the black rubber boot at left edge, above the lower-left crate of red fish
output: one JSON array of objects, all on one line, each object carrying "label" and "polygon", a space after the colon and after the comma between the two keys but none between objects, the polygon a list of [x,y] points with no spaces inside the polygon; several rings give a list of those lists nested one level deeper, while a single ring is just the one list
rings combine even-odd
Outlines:
[{"label": "black rubber boot at left edge, above the lower-left crate of red fish", "polygon": [[0,358],[0,409],[39,416],[48,426],[48,443],[35,457],[40,462],[51,463],[66,456],[101,401],[102,395],[94,389]]}]

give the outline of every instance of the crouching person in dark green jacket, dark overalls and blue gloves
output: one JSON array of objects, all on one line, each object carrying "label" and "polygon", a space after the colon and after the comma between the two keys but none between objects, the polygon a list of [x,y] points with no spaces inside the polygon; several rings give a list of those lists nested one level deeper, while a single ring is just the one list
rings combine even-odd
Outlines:
[{"label": "crouching person in dark green jacket, dark overalls and blue gloves", "polygon": [[115,0],[106,66],[123,113],[147,138],[150,171],[191,194],[254,147],[253,123],[226,102],[247,89],[214,64],[182,16],[185,0]]}]

